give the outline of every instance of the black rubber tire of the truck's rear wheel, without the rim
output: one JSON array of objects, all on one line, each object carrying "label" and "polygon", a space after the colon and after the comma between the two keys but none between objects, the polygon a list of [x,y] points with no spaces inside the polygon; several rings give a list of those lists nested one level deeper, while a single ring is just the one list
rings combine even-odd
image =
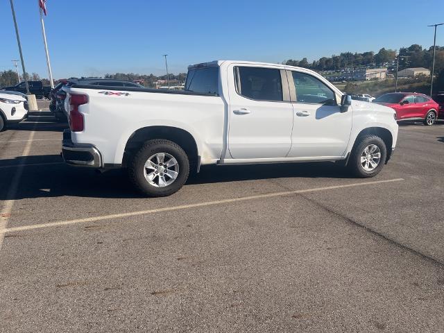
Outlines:
[{"label": "black rubber tire of the truck's rear wheel, without the rim", "polygon": [[[144,176],[145,163],[148,161],[148,158],[157,153],[167,153],[178,162],[177,178],[165,187],[155,187],[151,185]],[[188,179],[188,156],[185,151],[174,142],[165,139],[149,140],[130,158],[128,163],[128,176],[135,187],[146,196],[170,196],[181,189]],[[157,180],[159,180],[159,178],[157,178]]]}]

